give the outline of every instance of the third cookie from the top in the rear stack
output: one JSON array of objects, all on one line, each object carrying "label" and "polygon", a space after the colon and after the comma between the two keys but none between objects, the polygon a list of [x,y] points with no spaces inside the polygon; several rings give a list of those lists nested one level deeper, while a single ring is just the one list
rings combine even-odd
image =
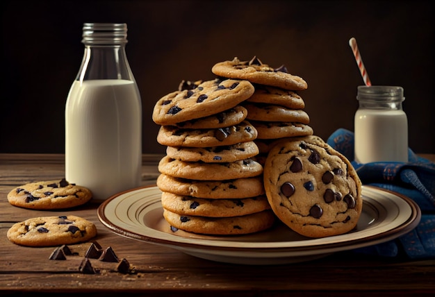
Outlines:
[{"label": "third cookie from the top in the rear stack", "polygon": [[309,124],[310,117],[304,110],[293,110],[281,105],[246,103],[247,119],[254,121],[284,121]]}]

